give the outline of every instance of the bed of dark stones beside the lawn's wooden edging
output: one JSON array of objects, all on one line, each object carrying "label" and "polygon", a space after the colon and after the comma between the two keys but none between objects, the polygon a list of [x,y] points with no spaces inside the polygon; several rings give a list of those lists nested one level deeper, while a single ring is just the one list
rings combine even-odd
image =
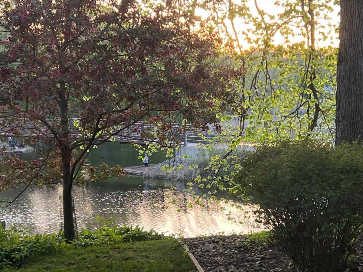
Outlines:
[{"label": "bed of dark stones beside the lawn's wooden edging", "polygon": [[[284,253],[246,236],[186,238],[184,243],[205,272],[294,271]],[[350,271],[363,272],[363,244],[355,256]]]}]

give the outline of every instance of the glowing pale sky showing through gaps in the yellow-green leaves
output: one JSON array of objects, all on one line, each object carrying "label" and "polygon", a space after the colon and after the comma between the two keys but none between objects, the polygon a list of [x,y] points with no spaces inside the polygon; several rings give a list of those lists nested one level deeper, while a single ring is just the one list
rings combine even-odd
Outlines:
[{"label": "glowing pale sky showing through gaps in the yellow-green leaves", "polygon": [[[283,7],[277,7],[274,4],[275,1],[276,0],[256,0],[257,5],[261,10],[264,10],[268,14],[272,14],[272,15],[277,16],[279,13],[284,12],[284,8]],[[283,1],[284,0],[281,0],[281,2],[283,2]],[[234,3],[238,3],[238,2],[239,2],[238,0],[234,1]],[[253,16],[259,17],[254,2],[255,2],[254,0],[249,0],[248,7],[250,8],[250,11],[251,11]],[[202,17],[205,17],[207,15],[207,13],[205,13],[204,11],[199,11],[199,13],[200,13],[200,15]],[[322,38],[322,35],[319,34],[320,31],[324,32],[324,33],[327,33],[327,30],[329,28],[328,27],[328,22],[331,25],[339,26],[340,17],[338,15],[338,13],[339,13],[339,6],[336,5],[336,6],[334,6],[334,11],[332,13],[330,13],[330,14],[327,14],[328,17],[330,17],[329,21],[327,21],[326,19],[323,19],[323,18],[319,18],[319,17],[315,18],[320,24],[325,26],[325,29],[324,28],[317,28],[316,29],[316,32],[315,32],[315,36],[316,36],[316,40],[317,40],[317,43],[315,44],[316,48],[322,48],[322,47],[326,47],[326,46],[338,47],[338,45],[339,45],[338,34],[336,34],[334,31],[333,31],[334,34],[331,35],[331,36],[328,36],[327,40],[325,40],[325,41],[319,40],[319,39]],[[322,16],[323,15],[321,15],[320,17],[322,17]],[[232,29],[231,24],[229,23],[229,20],[225,20],[225,24],[228,27],[228,31],[230,33],[232,33],[233,29]],[[246,41],[244,39],[244,36],[240,32],[241,31],[246,31],[248,28],[251,28],[252,26],[251,25],[246,25],[244,23],[244,20],[241,19],[241,18],[236,18],[234,20],[234,25],[236,27],[237,32],[239,33],[238,36],[240,38],[240,44],[242,45],[242,47],[244,49],[250,48],[250,44],[248,43],[248,41]],[[297,28],[295,28],[295,29],[297,29]],[[296,30],[296,32],[294,32],[294,34],[295,34],[295,37],[290,36],[291,43],[300,42],[301,40],[303,40],[303,37],[299,34],[298,30]],[[274,43],[276,45],[285,44],[285,40],[281,36],[280,33],[277,33],[274,36]]]}]

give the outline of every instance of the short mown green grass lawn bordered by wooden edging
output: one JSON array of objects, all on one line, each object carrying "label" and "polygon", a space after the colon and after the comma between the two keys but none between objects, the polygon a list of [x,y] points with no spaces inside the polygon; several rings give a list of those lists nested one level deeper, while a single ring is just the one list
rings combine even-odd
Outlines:
[{"label": "short mown green grass lawn bordered by wooden edging", "polygon": [[5,271],[196,271],[175,239],[70,248],[35,255],[18,269]]}]

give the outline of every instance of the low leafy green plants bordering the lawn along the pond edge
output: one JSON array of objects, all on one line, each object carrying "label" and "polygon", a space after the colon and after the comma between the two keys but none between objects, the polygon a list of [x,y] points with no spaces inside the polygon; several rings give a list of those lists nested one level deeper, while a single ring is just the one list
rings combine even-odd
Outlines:
[{"label": "low leafy green plants bordering the lawn along the pond edge", "polygon": [[0,230],[0,269],[16,266],[35,253],[47,253],[67,247],[88,247],[163,239],[164,236],[154,230],[144,231],[143,228],[107,227],[97,230],[81,230],[78,240],[66,243],[63,233],[32,234],[26,230]]}]

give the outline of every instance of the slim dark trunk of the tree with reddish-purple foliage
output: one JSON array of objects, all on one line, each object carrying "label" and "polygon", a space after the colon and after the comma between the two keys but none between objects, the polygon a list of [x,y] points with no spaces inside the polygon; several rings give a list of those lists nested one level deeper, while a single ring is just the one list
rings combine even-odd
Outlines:
[{"label": "slim dark trunk of the tree with reddish-purple foliage", "polygon": [[73,240],[76,238],[73,222],[73,202],[72,202],[72,183],[71,176],[71,158],[72,150],[69,144],[69,128],[68,128],[68,99],[63,95],[60,96],[61,111],[61,155],[62,155],[62,179],[63,179],[63,218],[64,218],[64,238]]}]

